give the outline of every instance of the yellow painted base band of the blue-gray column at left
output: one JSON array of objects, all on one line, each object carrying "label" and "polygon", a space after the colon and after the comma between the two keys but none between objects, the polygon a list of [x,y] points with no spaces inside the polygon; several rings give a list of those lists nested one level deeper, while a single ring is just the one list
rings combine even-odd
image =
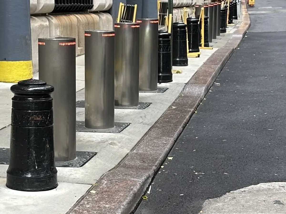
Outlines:
[{"label": "yellow painted base band of the blue-gray column at left", "polygon": [[32,60],[0,61],[0,82],[17,83],[33,77]]}]

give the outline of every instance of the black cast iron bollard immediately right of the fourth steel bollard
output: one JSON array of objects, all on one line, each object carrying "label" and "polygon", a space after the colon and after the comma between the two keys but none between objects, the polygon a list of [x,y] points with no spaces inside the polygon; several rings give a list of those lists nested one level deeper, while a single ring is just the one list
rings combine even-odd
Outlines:
[{"label": "black cast iron bollard immediately right of the fourth steel bollard", "polygon": [[158,37],[158,82],[172,82],[171,35],[168,31],[159,31]]}]

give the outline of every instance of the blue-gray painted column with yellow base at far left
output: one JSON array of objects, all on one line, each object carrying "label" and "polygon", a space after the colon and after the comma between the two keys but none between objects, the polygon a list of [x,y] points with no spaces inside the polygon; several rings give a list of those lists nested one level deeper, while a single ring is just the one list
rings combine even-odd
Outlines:
[{"label": "blue-gray painted column with yellow base at far left", "polygon": [[30,0],[0,0],[0,82],[32,77]]}]

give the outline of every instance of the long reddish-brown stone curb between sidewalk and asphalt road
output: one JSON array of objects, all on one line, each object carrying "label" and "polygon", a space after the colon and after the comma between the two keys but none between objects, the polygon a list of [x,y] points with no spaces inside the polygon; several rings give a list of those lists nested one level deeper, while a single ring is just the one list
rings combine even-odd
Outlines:
[{"label": "long reddish-brown stone curb between sidewalk and asphalt road", "polygon": [[134,209],[174,142],[249,29],[246,4],[244,0],[241,3],[243,22],[228,43],[208,58],[134,150],[116,168],[103,175],[97,185],[69,210],[69,214],[129,214]]}]

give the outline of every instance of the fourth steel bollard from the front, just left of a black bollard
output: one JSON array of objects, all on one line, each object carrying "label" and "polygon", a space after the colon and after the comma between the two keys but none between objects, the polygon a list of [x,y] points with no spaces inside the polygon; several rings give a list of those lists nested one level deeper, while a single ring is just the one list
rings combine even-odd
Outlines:
[{"label": "fourth steel bollard from the front, just left of a black bollard", "polygon": [[137,19],[139,36],[139,90],[158,89],[158,19]]}]

